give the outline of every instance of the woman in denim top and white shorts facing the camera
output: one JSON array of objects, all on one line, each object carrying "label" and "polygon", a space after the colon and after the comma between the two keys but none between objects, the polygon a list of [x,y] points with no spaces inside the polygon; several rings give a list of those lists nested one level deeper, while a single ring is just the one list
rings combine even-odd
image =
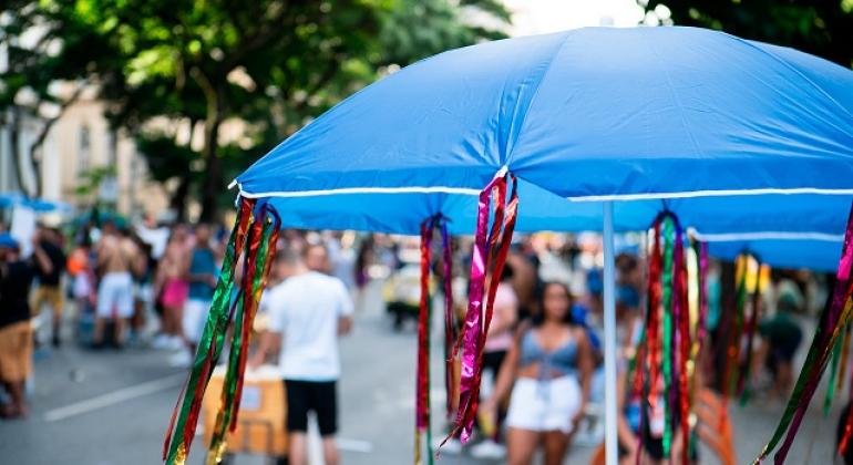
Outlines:
[{"label": "woman in denim top and white shorts facing the camera", "polygon": [[506,415],[510,465],[532,463],[539,444],[546,465],[562,464],[583,416],[594,361],[586,330],[572,323],[571,307],[565,285],[543,287],[539,313],[518,330],[494,395],[483,403],[484,412],[494,413],[512,389]]}]

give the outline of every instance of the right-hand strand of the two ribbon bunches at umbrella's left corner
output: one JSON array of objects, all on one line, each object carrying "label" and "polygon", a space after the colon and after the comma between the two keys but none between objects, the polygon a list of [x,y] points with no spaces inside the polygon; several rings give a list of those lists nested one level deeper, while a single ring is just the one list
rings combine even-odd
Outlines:
[{"label": "right-hand strand of the two ribbon bunches at umbrella's left corner", "polygon": [[234,432],[237,427],[237,412],[243,397],[243,382],[246,370],[251,323],[255,320],[257,306],[260,301],[260,292],[266,287],[266,278],[276,252],[275,245],[278,241],[280,227],[278,215],[270,209],[269,204],[256,207],[256,220],[251,225],[247,241],[247,254],[243,266],[243,281],[240,293],[237,298],[234,311],[234,330],[232,334],[230,352],[228,354],[228,369],[223,382],[219,411],[210,440],[208,451],[208,464],[222,462],[225,453],[227,432]]}]

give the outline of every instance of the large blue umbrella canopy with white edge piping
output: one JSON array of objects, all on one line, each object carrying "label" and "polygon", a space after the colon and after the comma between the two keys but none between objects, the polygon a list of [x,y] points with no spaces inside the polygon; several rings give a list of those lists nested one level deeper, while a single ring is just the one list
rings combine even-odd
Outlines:
[{"label": "large blue umbrella canopy with white edge piping", "polygon": [[668,208],[702,232],[840,234],[852,111],[853,72],[791,49],[693,28],[579,29],[408,66],[237,183],[289,226],[417,232],[440,211],[466,231],[505,167],[521,179],[522,230],[600,229],[594,202],[623,199],[617,229]]}]

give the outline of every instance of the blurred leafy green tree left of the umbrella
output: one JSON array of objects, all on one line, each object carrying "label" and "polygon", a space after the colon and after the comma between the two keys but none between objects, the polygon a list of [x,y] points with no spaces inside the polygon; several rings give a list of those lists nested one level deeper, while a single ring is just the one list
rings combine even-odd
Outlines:
[{"label": "blurred leafy green tree left of the umbrella", "polygon": [[[203,219],[222,202],[229,166],[245,167],[248,156],[271,148],[391,65],[502,37],[469,24],[471,9],[508,21],[494,0],[17,3],[13,33],[38,25],[61,46],[54,55],[17,51],[4,76],[14,82],[8,90],[19,92],[37,74],[34,82],[47,83],[39,95],[48,99],[53,79],[91,80],[111,122],[140,142],[153,175],[178,178],[173,205],[197,187]],[[223,124],[240,134],[224,137]],[[187,137],[196,126],[201,141]]]}]

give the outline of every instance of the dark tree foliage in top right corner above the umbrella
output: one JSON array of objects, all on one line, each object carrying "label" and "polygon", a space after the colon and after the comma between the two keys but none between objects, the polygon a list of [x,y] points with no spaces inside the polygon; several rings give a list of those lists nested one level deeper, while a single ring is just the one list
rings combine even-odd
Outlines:
[{"label": "dark tree foliage in top right corner above the umbrella", "polygon": [[[853,0],[637,0],[672,22],[788,45],[853,68]],[[665,6],[666,9],[661,9]]]}]

